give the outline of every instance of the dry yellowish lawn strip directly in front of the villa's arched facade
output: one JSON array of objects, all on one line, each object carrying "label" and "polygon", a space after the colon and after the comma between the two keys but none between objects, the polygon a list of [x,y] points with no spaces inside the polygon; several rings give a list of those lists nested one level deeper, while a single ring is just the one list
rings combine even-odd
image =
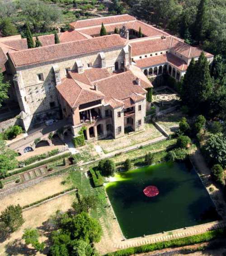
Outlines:
[{"label": "dry yellowish lawn strip directly in front of the villa's arched facade", "polygon": [[99,140],[96,143],[103,149],[104,153],[110,153],[115,150],[136,145],[147,140],[158,138],[162,134],[151,123],[145,124],[145,130],[141,132],[125,135],[118,139]]}]

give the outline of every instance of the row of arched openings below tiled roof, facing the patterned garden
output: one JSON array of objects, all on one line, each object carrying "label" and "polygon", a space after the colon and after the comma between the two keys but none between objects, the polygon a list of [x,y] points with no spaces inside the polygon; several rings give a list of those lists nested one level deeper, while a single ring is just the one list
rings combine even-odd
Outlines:
[{"label": "row of arched openings below tiled roof, facing the patterned garden", "polygon": [[172,67],[171,65],[159,65],[159,66],[155,66],[155,67],[150,67],[150,68],[146,68],[146,69],[142,69],[143,73],[147,76],[147,77],[152,77],[152,76],[157,76],[157,75],[161,75],[161,74],[169,74],[170,76],[174,77],[176,80],[180,80],[181,78],[181,73],[178,69],[175,69],[174,67]]}]

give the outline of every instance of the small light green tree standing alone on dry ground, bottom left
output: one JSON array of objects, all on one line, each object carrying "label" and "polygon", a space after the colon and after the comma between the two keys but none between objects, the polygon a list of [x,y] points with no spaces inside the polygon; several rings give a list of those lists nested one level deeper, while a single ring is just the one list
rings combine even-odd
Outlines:
[{"label": "small light green tree standing alone on dry ground, bottom left", "polygon": [[42,242],[40,243],[38,241],[39,238],[39,234],[38,234],[38,230],[34,229],[34,228],[26,228],[24,230],[24,234],[22,236],[22,239],[25,240],[25,244],[29,245],[31,244],[34,249],[36,249],[37,251],[43,251],[44,247],[45,247],[45,243]]}]

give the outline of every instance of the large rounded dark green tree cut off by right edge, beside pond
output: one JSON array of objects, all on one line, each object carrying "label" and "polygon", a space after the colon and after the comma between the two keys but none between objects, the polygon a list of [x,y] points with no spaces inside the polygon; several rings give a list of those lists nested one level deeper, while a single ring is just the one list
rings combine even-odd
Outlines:
[{"label": "large rounded dark green tree cut off by right edge, beside pond", "polygon": [[226,167],[226,135],[222,133],[211,134],[203,146],[208,162]]}]

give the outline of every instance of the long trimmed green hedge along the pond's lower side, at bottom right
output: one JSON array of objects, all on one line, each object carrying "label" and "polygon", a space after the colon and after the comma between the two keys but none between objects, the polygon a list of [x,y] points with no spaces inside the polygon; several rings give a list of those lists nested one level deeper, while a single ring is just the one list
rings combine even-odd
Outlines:
[{"label": "long trimmed green hedge along the pond's lower side, at bottom right", "polygon": [[149,251],[162,250],[170,247],[174,248],[174,247],[180,247],[180,246],[188,246],[188,245],[198,244],[202,242],[207,242],[212,239],[215,239],[218,237],[225,237],[225,236],[226,236],[226,229],[216,229],[216,230],[207,231],[199,235],[188,236],[188,237],[177,238],[177,239],[165,241],[165,242],[157,242],[149,245],[122,249],[119,251],[108,253],[106,254],[106,256],[128,256],[135,253],[145,253]]}]

